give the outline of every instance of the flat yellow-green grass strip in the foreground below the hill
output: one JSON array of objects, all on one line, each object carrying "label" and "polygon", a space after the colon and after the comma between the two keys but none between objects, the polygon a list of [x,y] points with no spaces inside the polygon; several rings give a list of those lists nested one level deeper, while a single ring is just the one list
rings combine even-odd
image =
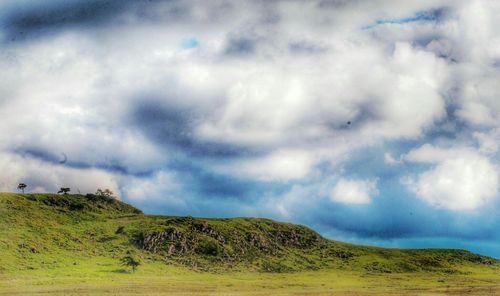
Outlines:
[{"label": "flat yellow-green grass strip in the foreground below the hill", "polygon": [[498,295],[496,271],[466,275],[364,274],[321,270],[295,273],[195,272],[147,262],[135,273],[94,258],[75,266],[3,274],[0,294],[145,295]]}]

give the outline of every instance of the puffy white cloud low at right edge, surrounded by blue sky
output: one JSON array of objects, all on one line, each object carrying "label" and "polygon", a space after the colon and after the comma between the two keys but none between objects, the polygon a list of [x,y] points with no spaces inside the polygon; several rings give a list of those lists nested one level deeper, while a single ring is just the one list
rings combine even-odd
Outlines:
[{"label": "puffy white cloud low at right edge, surrounded by blue sky", "polygon": [[499,170],[471,149],[441,149],[424,145],[405,160],[429,163],[433,168],[404,183],[425,202],[448,210],[474,210],[498,198]]}]

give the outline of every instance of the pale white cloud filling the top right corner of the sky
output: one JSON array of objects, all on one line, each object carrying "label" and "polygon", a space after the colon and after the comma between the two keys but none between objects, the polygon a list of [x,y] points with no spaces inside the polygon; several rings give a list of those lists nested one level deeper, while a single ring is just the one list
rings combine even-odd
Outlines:
[{"label": "pale white cloud filling the top right corner of the sky", "polygon": [[467,1],[457,8],[457,28],[450,38],[461,52],[454,67],[460,84],[457,112],[486,127],[500,126],[500,10],[498,1]]}]

